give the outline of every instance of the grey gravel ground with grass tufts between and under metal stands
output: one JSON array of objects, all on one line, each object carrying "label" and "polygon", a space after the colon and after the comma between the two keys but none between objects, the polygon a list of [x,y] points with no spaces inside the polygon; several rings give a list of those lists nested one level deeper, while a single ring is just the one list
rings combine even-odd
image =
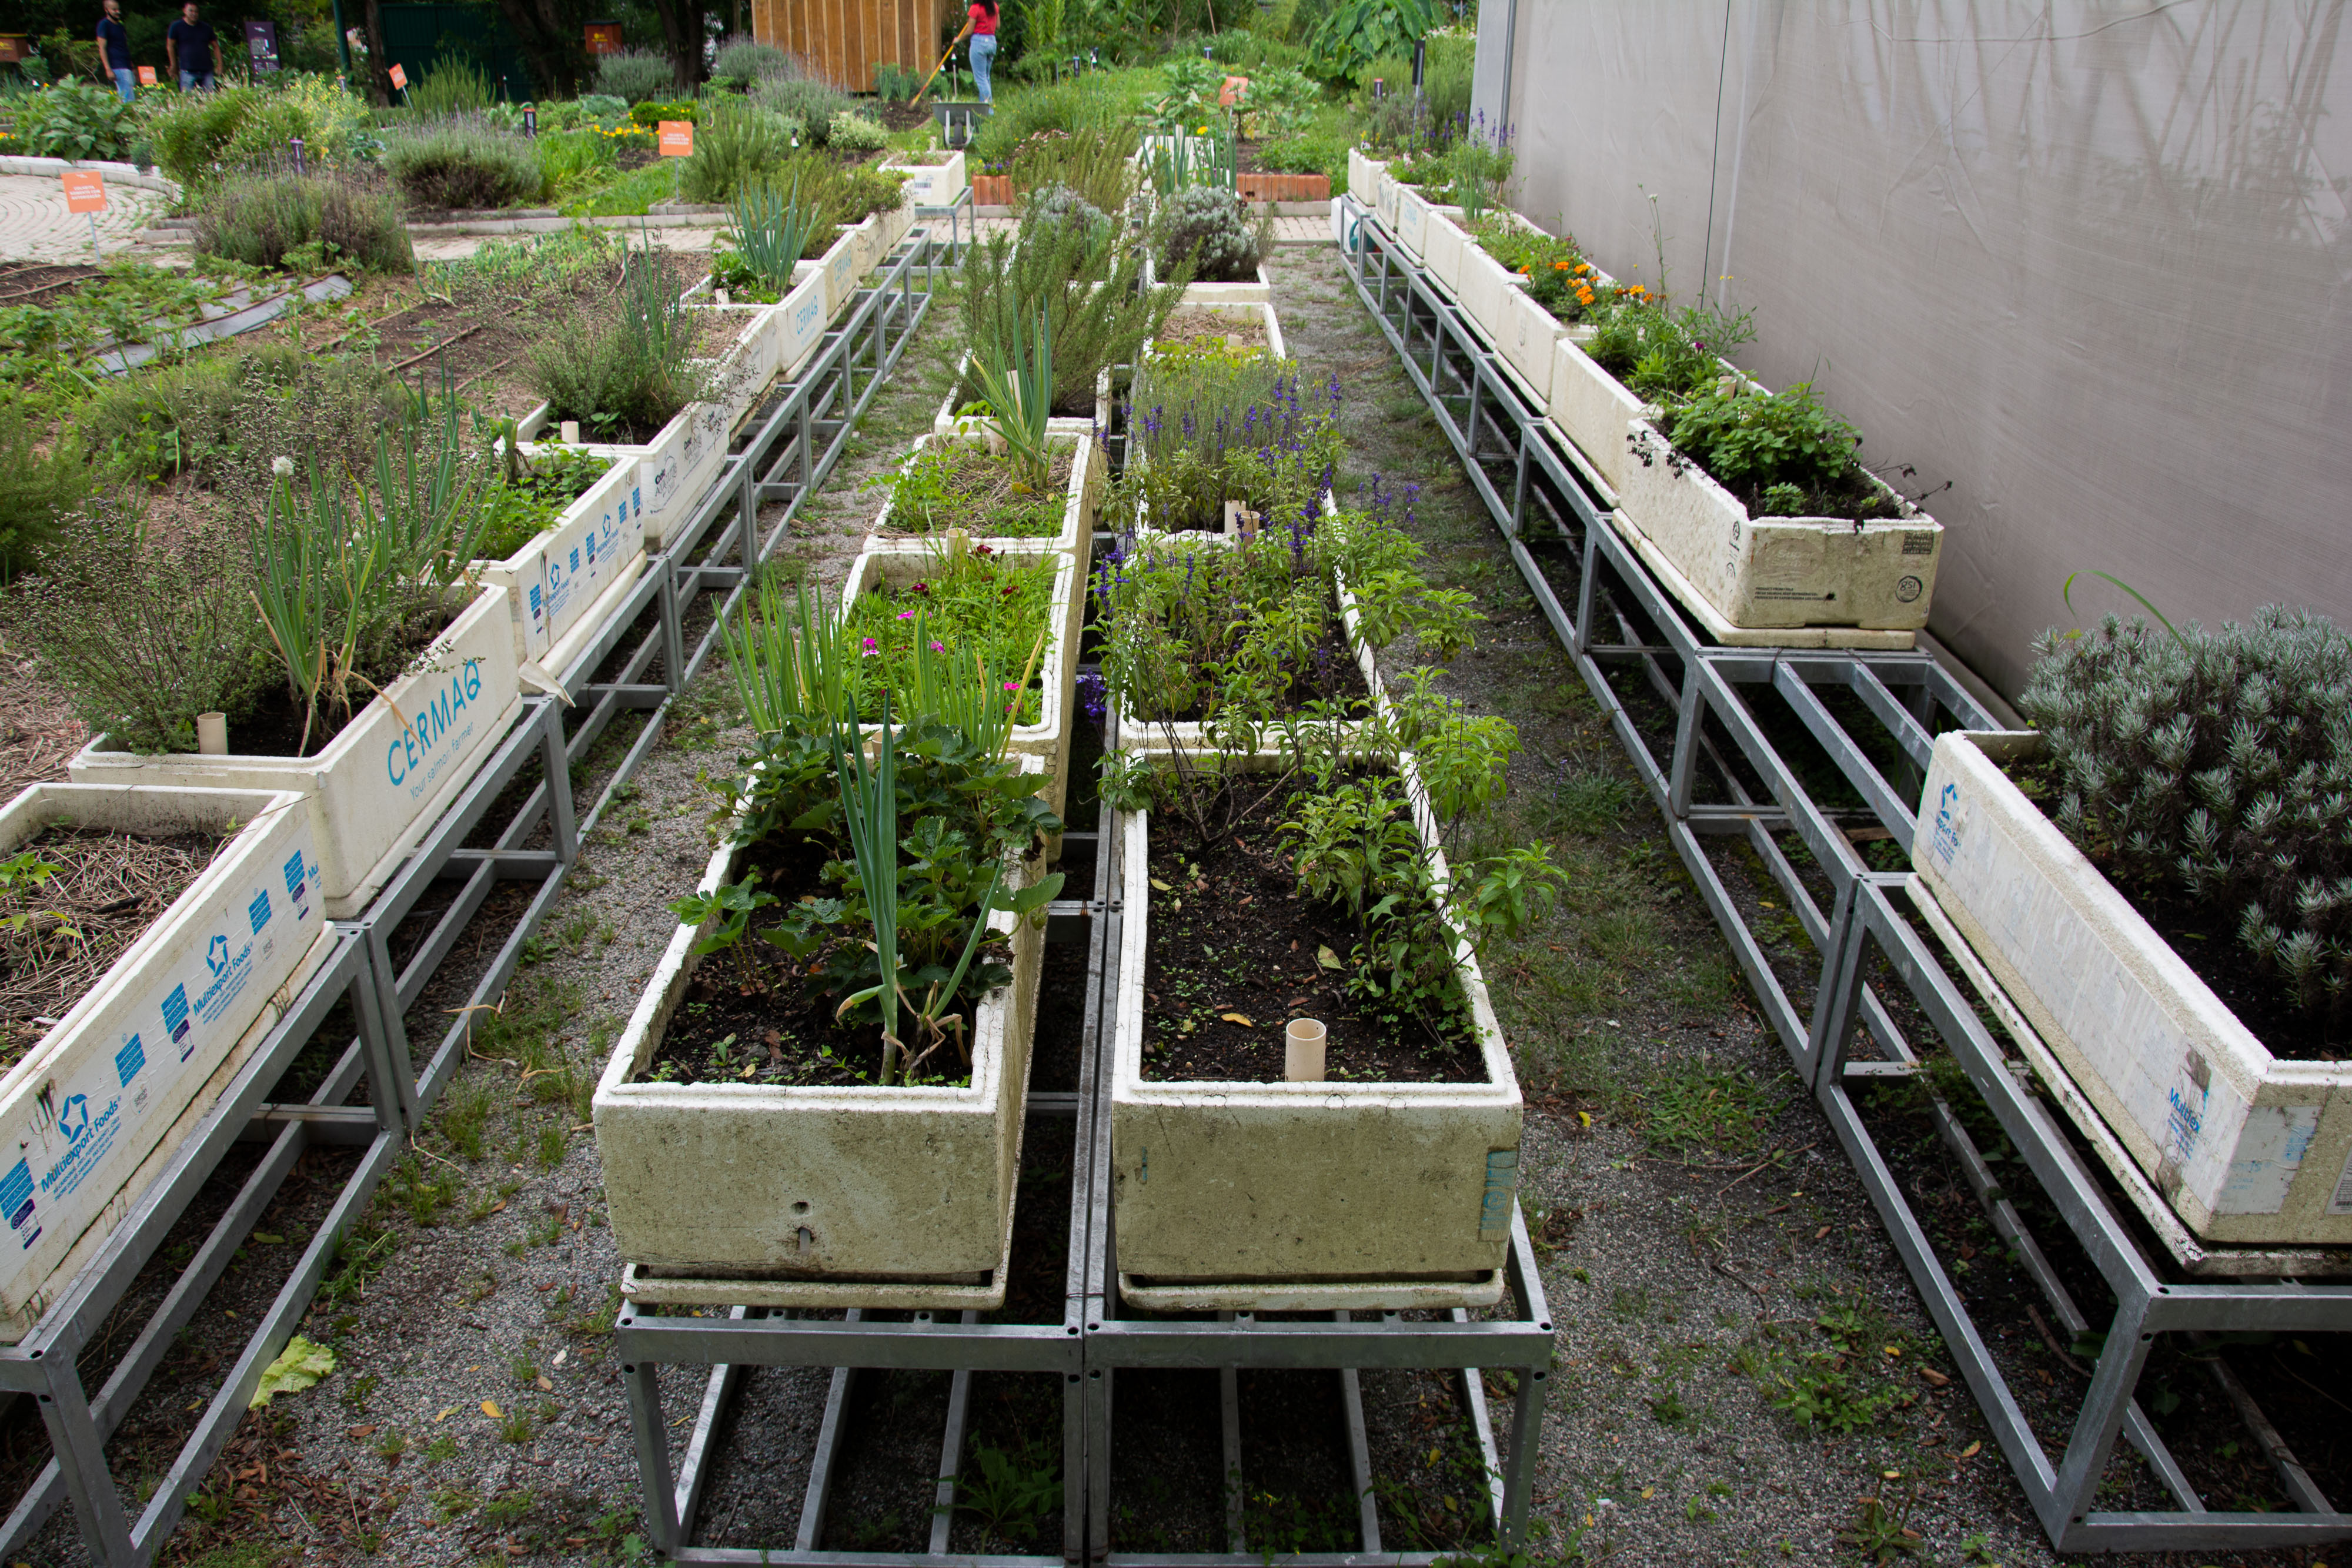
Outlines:
[{"label": "grey gravel ground with grass tufts between and under metal stands", "polygon": [[[1310,378],[1343,381],[1343,491],[1374,475],[1392,494],[1416,484],[1411,529],[1435,574],[1479,595],[1489,621],[1442,689],[1519,724],[1508,832],[1550,842],[1571,870],[1548,929],[1489,964],[1531,1100],[1524,1197],[1559,1324],[1541,1552],[1625,1563],[2053,1561],[1860,1182],[1748,1006],[1656,813],[1336,256],[1284,247],[1275,301]],[[934,310],[795,527],[783,557],[793,574],[842,581],[880,505],[861,482],[924,428],[957,348],[953,308]],[[308,1333],[334,1345],[339,1371],[247,1418],[172,1561],[633,1556],[637,1481],[607,1340],[619,1260],[583,1124],[609,1044],[668,940],[663,905],[708,858],[708,778],[734,757],[731,719],[724,672],[710,670],[588,844],[503,1016],[482,1020],[433,1128],[313,1309]],[[428,1013],[412,1016],[412,1030]],[[1025,1206],[1068,1192],[1065,1135],[1035,1135],[1023,1164]],[[256,1237],[207,1302],[113,1446],[125,1476],[169,1460],[174,1418],[235,1345],[230,1314],[275,1291],[282,1269],[270,1260],[289,1260],[294,1246],[280,1244],[308,1234],[329,1190],[310,1175],[329,1173],[289,1185],[263,1220],[273,1241]],[[205,1201],[226,1201],[226,1187]],[[1037,1246],[1047,1274],[1061,1267],[1051,1246]],[[2027,1356],[2020,1366],[2042,1354],[2032,1335],[2004,1345]],[[2058,1359],[2039,1375],[2051,1368]],[[706,1540],[790,1540],[823,1389],[821,1371],[748,1378],[713,1474]],[[1054,1392],[1033,1378],[976,1380],[976,1443],[1049,1476]],[[684,1420],[699,1380],[670,1373],[663,1396]],[[943,1375],[863,1380],[828,1547],[920,1537],[943,1396]],[[1390,1544],[1461,1540],[1449,1497],[1468,1505],[1475,1476],[1463,1483],[1446,1385],[1376,1373],[1364,1399]],[[1258,1549],[1348,1544],[1334,1535],[1352,1521],[1336,1380],[1244,1380],[1242,1406]],[[1496,1422],[1508,1422],[1508,1399],[1496,1399]],[[0,1462],[14,1455],[21,1472],[38,1458],[24,1410],[0,1436]],[[1129,1375],[1117,1436],[1115,1544],[1216,1549],[1216,1378]],[[1028,1542],[1011,1526],[997,1535],[957,1523],[957,1549],[983,1544]],[[31,1561],[85,1561],[71,1523],[54,1521]]]}]

